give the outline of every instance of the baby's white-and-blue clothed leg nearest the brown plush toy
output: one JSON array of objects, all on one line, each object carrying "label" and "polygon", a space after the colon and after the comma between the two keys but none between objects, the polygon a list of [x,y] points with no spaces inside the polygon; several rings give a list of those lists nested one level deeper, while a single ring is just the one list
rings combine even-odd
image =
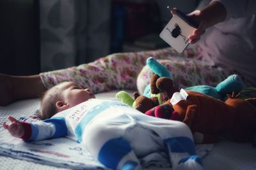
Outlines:
[{"label": "baby's white-and-blue clothed leg nearest the brown plush toy", "polygon": [[180,121],[162,120],[154,124],[154,130],[166,146],[173,169],[203,169],[187,125]]}]

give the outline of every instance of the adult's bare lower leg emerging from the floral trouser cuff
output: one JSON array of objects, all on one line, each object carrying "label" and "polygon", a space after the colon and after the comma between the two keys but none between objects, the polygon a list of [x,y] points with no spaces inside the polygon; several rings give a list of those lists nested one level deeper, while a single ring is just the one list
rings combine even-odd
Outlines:
[{"label": "adult's bare lower leg emerging from the floral trouser cuff", "polygon": [[0,105],[40,97],[46,89],[39,75],[11,76],[0,73]]}]

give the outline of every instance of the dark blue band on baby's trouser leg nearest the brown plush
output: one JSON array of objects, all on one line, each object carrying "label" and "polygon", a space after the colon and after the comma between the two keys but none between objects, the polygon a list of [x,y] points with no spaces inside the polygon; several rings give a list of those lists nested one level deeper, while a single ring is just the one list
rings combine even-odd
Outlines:
[{"label": "dark blue band on baby's trouser leg nearest the brown plush", "polygon": [[195,143],[189,137],[172,137],[164,139],[164,144],[170,146],[173,153],[189,153],[195,155]]}]

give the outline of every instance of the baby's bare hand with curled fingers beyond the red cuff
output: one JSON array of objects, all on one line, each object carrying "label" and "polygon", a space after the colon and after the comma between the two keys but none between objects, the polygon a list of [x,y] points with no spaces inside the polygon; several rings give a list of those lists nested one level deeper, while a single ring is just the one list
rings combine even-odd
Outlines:
[{"label": "baby's bare hand with curled fingers beyond the red cuff", "polygon": [[8,125],[6,122],[4,122],[3,127],[7,129],[14,137],[22,137],[24,135],[24,127],[22,123],[12,116],[9,116],[8,119],[11,121],[11,124]]}]

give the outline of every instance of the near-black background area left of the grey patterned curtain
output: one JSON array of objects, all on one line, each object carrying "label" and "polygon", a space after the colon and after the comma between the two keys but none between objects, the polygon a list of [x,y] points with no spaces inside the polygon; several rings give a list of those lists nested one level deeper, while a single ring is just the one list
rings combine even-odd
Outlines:
[{"label": "near-black background area left of the grey patterned curtain", "polygon": [[40,72],[38,1],[0,1],[0,73]]}]

